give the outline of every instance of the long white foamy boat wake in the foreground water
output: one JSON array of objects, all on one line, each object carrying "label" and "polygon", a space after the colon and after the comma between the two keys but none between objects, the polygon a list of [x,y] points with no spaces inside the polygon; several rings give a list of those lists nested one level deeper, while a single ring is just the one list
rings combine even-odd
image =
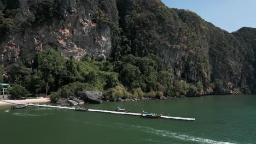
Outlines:
[{"label": "long white foamy boat wake in the foreground water", "polygon": [[[121,126],[123,124],[119,124],[119,125]],[[123,126],[126,127],[126,125],[123,125]],[[194,136],[189,136],[184,134],[177,134],[167,130],[159,130],[159,129],[144,127],[139,125],[131,125],[130,128],[139,129],[146,133],[150,133],[150,134],[154,134],[162,137],[169,137],[171,139],[178,139],[178,140],[188,141],[188,142],[195,142],[195,143],[198,142],[198,143],[204,143],[204,144],[237,144],[237,143],[231,143],[231,142],[214,141],[214,140],[205,139],[202,137],[194,137]]]}]

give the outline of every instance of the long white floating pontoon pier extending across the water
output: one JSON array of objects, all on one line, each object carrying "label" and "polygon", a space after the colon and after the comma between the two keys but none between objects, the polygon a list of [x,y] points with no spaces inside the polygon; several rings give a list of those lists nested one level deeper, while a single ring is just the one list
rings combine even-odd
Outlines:
[{"label": "long white floating pontoon pier extending across the water", "polygon": [[[53,106],[53,105],[46,105],[46,104],[26,104],[26,103],[13,103],[12,101],[8,100],[0,100],[5,103],[15,104],[15,105],[28,105],[28,106],[41,106],[41,107],[51,107],[56,109],[68,109],[74,110],[75,107],[67,107],[67,106]],[[121,114],[121,115],[133,115],[133,116],[141,116],[141,113],[133,113],[133,112],[117,112],[117,111],[106,111],[106,110],[94,110],[88,109],[91,112],[105,112],[105,113],[114,113],[114,114]],[[170,117],[170,116],[161,116],[160,118],[167,118],[167,119],[177,119],[177,120],[184,120],[184,121],[195,121],[195,118],[183,118],[183,117]]]}]

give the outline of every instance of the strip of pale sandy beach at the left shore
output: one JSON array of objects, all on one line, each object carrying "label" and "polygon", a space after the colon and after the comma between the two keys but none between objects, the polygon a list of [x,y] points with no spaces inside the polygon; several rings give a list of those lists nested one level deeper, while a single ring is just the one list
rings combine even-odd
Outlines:
[{"label": "strip of pale sandy beach at the left shore", "polygon": [[[39,98],[39,99],[25,99],[25,100],[6,100],[10,101],[12,103],[48,103],[51,100],[48,98]],[[0,106],[1,105],[13,105],[10,103],[4,103],[3,101],[0,101]]]}]

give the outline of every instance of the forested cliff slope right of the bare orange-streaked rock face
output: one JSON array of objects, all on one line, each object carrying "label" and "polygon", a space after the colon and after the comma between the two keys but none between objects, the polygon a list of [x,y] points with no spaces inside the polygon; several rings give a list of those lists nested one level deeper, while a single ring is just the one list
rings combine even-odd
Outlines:
[{"label": "forested cliff slope right of the bare orange-streaked rock face", "polygon": [[[120,26],[131,40],[131,53],[155,53],[178,80],[220,79],[234,86],[247,84],[246,51],[234,35],[206,22],[189,10],[168,9],[160,1],[118,1]],[[143,41],[143,42],[142,42]]]}]

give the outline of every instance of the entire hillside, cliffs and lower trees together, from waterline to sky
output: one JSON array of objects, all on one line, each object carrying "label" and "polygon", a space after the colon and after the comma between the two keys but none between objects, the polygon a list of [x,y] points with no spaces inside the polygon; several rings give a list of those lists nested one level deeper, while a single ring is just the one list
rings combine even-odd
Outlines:
[{"label": "entire hillside, cliffs and lower trees together, from waterline to sky", "polygon": [[[254,28],[228,33],[159,0],[2,0],[0,19],[4,81],[31,93],[64,86],[57,93],[66,87],[70,94],[74,85],[88,89],[90,83],[106,98],[251,93],[255,87]],[[59,72],[45,75],[44,52],[54,54],[52,61],[60,56]],[[38,74],[40,85],[32,84]]]}]

